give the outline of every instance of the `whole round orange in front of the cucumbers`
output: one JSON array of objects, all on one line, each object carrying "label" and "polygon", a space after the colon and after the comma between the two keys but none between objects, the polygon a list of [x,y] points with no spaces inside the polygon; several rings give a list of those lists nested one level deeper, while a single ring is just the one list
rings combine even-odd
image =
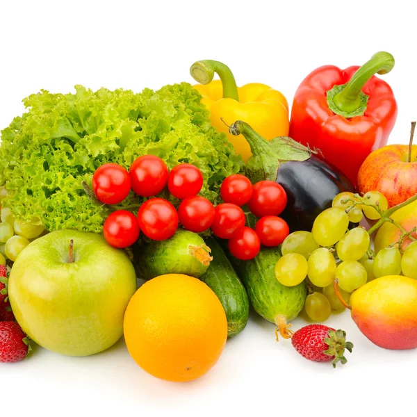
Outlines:
[{"label": "whole round orange in front of the cucumbers", "polygon": [[147,373],[167,381],[191,381],[210,370],[222,354],[226,314],[204,282],[188,275],[161,275],[131,298],[124,338]]}]

